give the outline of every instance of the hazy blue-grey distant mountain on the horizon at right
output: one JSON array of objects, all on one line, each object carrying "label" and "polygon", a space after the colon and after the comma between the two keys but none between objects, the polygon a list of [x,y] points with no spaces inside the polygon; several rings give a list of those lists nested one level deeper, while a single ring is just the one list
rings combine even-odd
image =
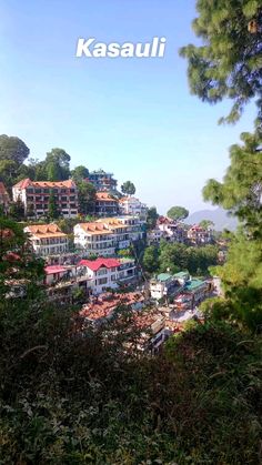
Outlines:
[{"label": "hazy blue-grey distant mountain on the horizon at right", "polygon": [[202,220],[213,221],[215,231],[223,231],[224,229],[234,231],[238,226],[238,220],[229,216],[228,212],[223,209],[200,210],[189,215],[184,223],[199,224]]}]

